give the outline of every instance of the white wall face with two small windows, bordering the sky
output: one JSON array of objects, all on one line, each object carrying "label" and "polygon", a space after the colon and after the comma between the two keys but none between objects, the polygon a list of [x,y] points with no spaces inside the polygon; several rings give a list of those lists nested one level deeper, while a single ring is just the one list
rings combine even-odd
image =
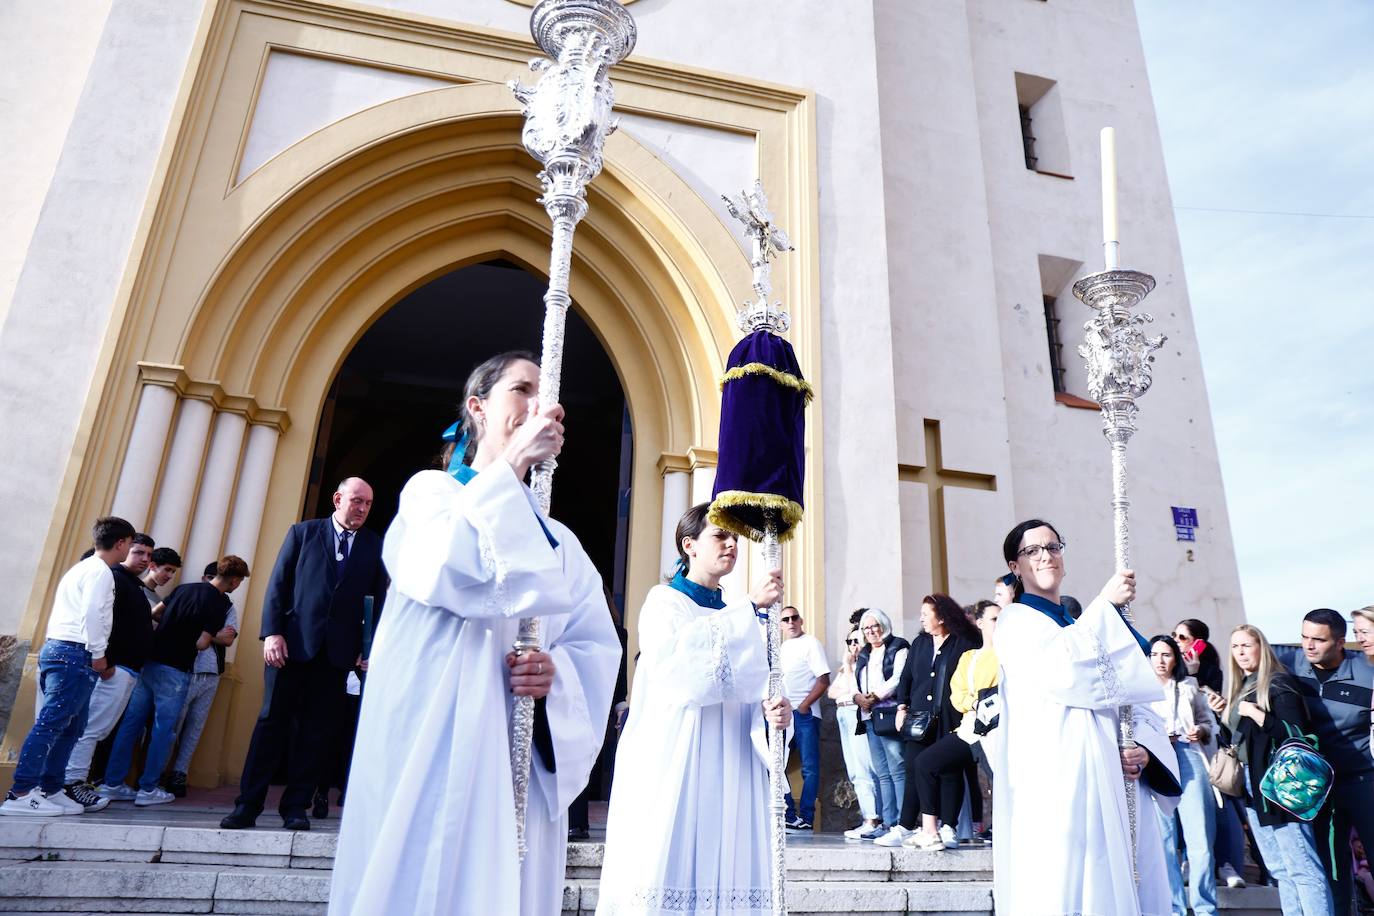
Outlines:
[{"label": "white wall face with two small windows, bordering the sky", "polygon": [[[970,5],[982,163],[992,228],[1015,515],[1041,515],[1070,542],[1066,592],[1088,599],[1112,571],[1110,477],[1096,411],[1052,400],[1040,255],[1101,269],[1098,132],[1118,135],[1121,261],[1158,287],[1143,310],[1169,341],[1140,400],[1131,442],[1132,564],[1142,632],[1198,617],[1227,632],[1242,619],[1239,577],[1183,262],[1129,0]],[[1072,180],[1025,168],[1014,73],[1055,80]],[[1087,396],[1073,347],[1091,310],[1059,299],[1069,387]],[[1171,505],[1198,509],[1195,544],[1178,542]],[[1189,555],[1191,553],[1191,559]]]}]

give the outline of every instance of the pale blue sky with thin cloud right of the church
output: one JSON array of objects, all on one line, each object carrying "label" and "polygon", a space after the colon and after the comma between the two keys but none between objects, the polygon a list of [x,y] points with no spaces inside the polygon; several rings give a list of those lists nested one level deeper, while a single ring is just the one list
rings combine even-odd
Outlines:
[{"label": "pale blue sky with thin cloud right of the church", "polygon": [[1296,641],[1374,604],[1374,3],[1136,16],[1246,618]]}]

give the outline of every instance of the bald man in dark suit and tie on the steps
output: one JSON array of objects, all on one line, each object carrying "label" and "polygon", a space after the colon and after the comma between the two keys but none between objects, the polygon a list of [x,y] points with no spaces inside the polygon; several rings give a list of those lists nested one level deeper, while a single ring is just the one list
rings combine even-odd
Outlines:
[{"label": "bald man in dark suit and tie on the steps", "polygon": [[286,533],[262,602],[262,711],[225,829],[253,827],[283,759],[282,823],[311,828],[305,812],[334,746],[345,681],[363,663],[363,599],[379,608],[386,593],[382,538],[363,527],[371,508],[372,488],[350,477],[334,492],[334,515]]}]

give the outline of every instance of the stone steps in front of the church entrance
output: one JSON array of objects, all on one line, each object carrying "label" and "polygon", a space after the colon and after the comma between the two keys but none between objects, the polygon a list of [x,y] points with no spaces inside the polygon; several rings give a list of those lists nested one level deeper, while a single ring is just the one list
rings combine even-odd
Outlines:
[{"label": "stone steps in front of the church entrance", "polygon": [[[0,818],[0,912],[324,913],[337,821],[223,831],[206,813]],[[323,828],[323,829],[322,829]],[[565,915],[594,913],[603,847],[570,843]],[[808,913],[991,916],[992,850],[921,853],[790,838],[787,906]],[[1272,916],[1272,889],[1224,890],[1227,916]]]}]

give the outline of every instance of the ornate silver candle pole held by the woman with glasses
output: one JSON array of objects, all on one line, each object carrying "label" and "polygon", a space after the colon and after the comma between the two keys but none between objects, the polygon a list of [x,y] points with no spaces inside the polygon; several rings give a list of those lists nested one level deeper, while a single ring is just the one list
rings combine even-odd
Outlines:
[{"label": "ornate silver candle pole held by the woman with glasses", "polygon": [[[1146,336],[1143,327],[1154,319],[1146,313],[1132,314],[1150,290],[1154,277],[1139,271],[1112,269],[1092,273],[1073,284],[1079,297],[1096,313],[1083,325],[1085,342],[1079,346],[1088,369],[1088,393],[1102,408],[1102,433],[1112,449],[1112,530],[1117,571],[1131,569],[1131,500],[1127,496],[1125,446],[1135,434],[1136,398],[1150,390],[1150,364],[1154,350],[1165,338]],[[1121,608],[1127,623],[1134,623],[1131,606]],[[1123,706],[1121,747],[1135,743],[1135,710]],[[1131,871],[1140,883],[1139,856],[1139,781],[1125,780],[1127,817],[1131,823]]]}]

